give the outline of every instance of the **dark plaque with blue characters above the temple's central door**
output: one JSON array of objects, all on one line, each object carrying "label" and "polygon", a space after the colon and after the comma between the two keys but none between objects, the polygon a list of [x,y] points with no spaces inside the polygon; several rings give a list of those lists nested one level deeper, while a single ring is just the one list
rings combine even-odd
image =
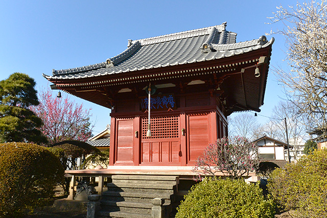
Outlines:
[{"label": "dark plaque with blue characters above the temple's central door", "polygon": [[[148,110],[148,97],[141,98],[141,110]],[[176,109],[176,100],[174,94],[151,95],[151,110],[169,110]]]}]

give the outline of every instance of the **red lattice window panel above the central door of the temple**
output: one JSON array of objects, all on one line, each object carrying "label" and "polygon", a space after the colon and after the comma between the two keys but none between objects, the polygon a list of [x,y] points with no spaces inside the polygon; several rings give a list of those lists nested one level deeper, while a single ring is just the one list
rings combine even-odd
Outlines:
[{"label": "red lattice window panel above the central door of the temple", "polygon": [[179,116],[151,117],[151,137],[147,137],[148,117],[142,118],[142,138],[178,138]]}]

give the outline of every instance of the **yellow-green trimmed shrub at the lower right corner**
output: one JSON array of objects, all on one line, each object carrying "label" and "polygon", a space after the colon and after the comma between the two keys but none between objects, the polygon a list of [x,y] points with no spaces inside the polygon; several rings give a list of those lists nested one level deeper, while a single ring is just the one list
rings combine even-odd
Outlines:
[{"label": "yellow-green trimmed shrub at the lower right corner", "polygon": [[279,207],[295,211],[293,217],[327,217],[327,150],[273,171],[268,191]]}]

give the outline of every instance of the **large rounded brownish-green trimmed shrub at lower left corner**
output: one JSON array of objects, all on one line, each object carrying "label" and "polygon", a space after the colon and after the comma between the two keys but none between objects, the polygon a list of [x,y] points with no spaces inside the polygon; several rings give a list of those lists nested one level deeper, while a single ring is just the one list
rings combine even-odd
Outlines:
[{"label": "large rounded brownish-green trimmed shrub at lower left corner", "polygon": [[18,217],[53,197],[63,180],[59,159],[31,143],[0,144],[0,217]]}]

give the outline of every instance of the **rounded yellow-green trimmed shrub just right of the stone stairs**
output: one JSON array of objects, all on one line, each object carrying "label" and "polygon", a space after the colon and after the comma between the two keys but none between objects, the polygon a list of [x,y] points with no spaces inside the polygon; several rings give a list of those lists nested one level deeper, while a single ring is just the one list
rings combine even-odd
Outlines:
[{"label": "rounded yellow-green trimmed shrub just right of the stone stairs", "polygon": [[176,218],[274,217],[275,205],[258,185],[243,180],[204,179],[194,185],[177,208]]}]

